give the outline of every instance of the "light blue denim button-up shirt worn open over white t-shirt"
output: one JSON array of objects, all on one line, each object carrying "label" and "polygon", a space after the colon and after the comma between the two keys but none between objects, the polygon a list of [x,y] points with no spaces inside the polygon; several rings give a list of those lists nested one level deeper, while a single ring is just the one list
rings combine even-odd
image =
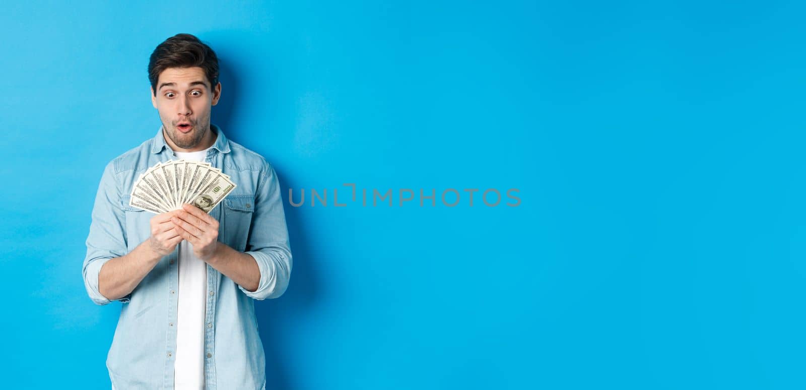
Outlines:
[{"label": "light blue denim button-up shirt worn open over white t-shirt", "polygon": [[[217,139],[205,161],[231,176],[237,185],[210,211],[219,222],[218,241],[255,258],[260,284],[249,292],[207,265],[206,389],[263,389],[265,357],[254,300],[280,297],[289,285],[292,266],[280,183],[262,156],[228,141],[218,126],[210,128]],[[98,305],[110,303],[98,292],[102,265],[126,255],[151,235],[149,220],[155,214],[129,206],[131,186],[140,173],[168,160],[177,157],[160,127],[156,137],[118,156],[104,169],[81,269],[87,293]],[[106,357],[110,379],[118,390],[173,388],[177,255],[178,246],[127,297],[118,300],[123,305]]]}]

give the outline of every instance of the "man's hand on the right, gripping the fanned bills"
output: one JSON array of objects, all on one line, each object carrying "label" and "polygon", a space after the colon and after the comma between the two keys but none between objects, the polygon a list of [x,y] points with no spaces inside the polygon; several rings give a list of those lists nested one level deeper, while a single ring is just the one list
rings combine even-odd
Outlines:
[{"label": "man's hand on the right, gripping the fanned bills", "polygon": [[182,239],[193,244],[193,255],[207,262],[218,247],[218,221],[194,205],[185,203],[171,222]]}]

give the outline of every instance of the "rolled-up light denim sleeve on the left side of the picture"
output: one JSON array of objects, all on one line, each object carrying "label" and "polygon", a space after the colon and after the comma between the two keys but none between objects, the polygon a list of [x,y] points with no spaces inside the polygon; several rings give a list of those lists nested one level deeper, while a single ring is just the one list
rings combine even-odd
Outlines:
[{"label": "rolled-up light denim sleeve on the left side of the picture", "polygon": [[[98,185],[93,205],[92,222],[87,237],[87,255],[81,273],[89,298],[96,305],[106,305],[110,300],[98,289],[98,275],[104,263],[126,255],[126,217],[120,209],[120,189],[114,177],[114,161],[106,165]],[[112,301],[128,302],[131,294]]]}]

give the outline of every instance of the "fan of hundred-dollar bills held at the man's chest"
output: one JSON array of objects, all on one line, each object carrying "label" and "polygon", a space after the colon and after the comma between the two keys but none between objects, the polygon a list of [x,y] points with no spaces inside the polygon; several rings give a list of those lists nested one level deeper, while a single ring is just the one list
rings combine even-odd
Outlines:
[{"label": "fan of hundred-dollar bills held at the man's chest", "polygon": [[189,203],[210,213],[235,189],[230,176],[206,162],[170,160],[139,176],[129,205],[155,214],[179,210]]}]

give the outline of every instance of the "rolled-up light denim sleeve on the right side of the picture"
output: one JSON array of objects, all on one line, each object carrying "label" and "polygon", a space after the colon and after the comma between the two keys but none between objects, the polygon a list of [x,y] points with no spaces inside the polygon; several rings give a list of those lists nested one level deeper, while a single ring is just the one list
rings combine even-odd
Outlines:
[{"label": "rolled-up light denim sleeve on the right side of the picture", "polygon": [[255,213],[244,252],[255,258],[260,268],[260,283],[255,291],[238,286],[256,300],[283,295],[291,278],[291,249],[285,211],[280,195],[280,180],[274,168],[264,163],[255,194]]}]

